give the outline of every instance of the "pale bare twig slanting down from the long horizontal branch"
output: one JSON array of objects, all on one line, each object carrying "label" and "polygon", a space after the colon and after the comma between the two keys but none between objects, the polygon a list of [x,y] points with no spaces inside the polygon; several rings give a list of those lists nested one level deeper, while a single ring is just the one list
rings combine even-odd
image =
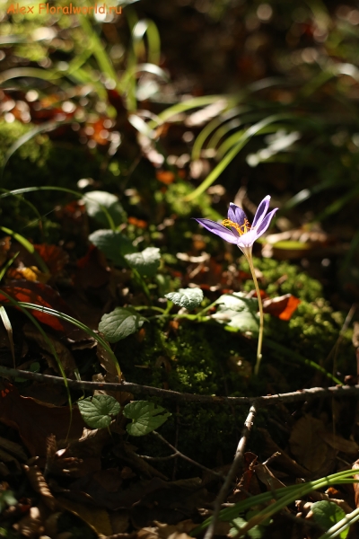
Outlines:
[{"label": "pale bare twig slanting down from the long horizontal branch", "polygon": [[228,490],[231,488],[232,482],[234,481],[237,472],[243,462],[244,450],[246,448],[247,440],[250,437],[250,430],[252,428],[254,418],[256,417],[257,408],[257,403],[253,402],[250,407],[250,413],[248,414],[247,419],[244,422],[244,428],[241,434],[240,443],[237,446],[237,451],[234,456],[232,466],[230,468],[230,471],[228,472],[225,482],[223,482],[222,488],[219,491],[217,498],[215,499],[215,510],[212,516],[211,524],[207,528],[205,539],[212,539],[215,534],[215,525],[217,524],[219,512],[221,510],[223,501],[226,499]]}]

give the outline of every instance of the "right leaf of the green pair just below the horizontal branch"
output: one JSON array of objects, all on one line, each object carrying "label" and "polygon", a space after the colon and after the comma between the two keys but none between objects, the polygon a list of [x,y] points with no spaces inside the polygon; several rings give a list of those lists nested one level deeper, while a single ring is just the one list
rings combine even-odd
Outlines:
[{"label": "right leaf of the green pair just below the horizontal branch", "polygon": [[[162,413],[162,412],[165,413]],[[171,416],[162,406],[155,406],[153,402],[130,402],[124,408],[124,416],[132,423],[127,425],[127,432],[131,436],[144,436],[154,429],[158,429]],[[161,414],[161,415],[160,415]]]}]

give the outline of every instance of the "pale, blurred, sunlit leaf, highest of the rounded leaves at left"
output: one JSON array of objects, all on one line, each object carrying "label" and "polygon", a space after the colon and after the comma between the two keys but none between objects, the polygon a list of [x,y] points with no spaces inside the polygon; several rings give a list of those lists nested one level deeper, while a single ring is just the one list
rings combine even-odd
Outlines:
[{"label": "pale, blurred, sunlit leaf, highest of the rounded leaves at left", "polygon": [[91,191],[83,197],[83,203],[88,215],[103,226],[109,226],[109,218],[106,212],[112,218],[115,226],[126,221],[126,212],[118,202],[118,197],[112,193],[100,190]]}]

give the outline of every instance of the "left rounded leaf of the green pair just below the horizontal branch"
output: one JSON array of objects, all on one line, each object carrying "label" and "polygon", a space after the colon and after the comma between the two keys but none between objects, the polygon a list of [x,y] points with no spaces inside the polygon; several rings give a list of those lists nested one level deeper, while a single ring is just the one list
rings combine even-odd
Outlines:
[{"label": "left rounded leaf of the green pair just below the horizontal branch", "polygon": [[112,417],[117,416],[120,406],[110,395],[94,395],[77,402],[84,422],[92,429],[109,427]]}]

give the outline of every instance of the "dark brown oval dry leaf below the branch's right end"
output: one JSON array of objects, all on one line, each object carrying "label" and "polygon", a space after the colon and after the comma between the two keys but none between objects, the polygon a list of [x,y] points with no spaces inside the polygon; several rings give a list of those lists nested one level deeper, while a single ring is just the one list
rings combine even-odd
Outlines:
[{"label": "dark brown oval dry leaf below the branch's right end", "polygon": [[289,438],[293,455],[311,472],[319,470],[328,457],[328,446],[320,437],[324,430],[323,421],[306,415],[294,424]]}]

